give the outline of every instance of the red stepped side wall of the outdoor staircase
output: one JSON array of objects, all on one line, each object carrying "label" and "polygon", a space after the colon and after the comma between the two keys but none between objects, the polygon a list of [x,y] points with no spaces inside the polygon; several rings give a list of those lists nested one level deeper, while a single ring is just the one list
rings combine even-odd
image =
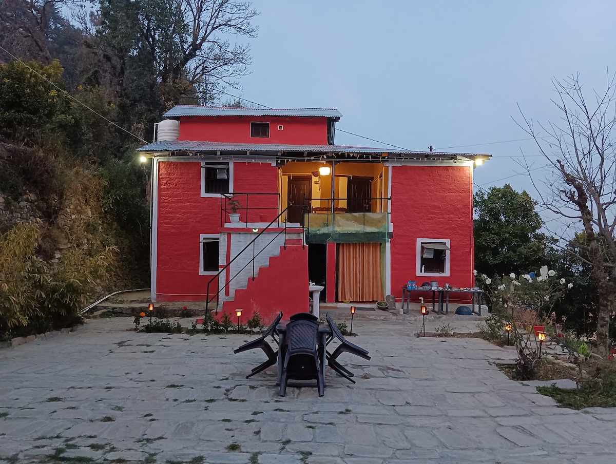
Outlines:
[{"label": "red stepped side wall of the outdoor staircase", "polygon": [[[269,266],[261,267],[254,281],[248,280],[245,290],[235,290],[233,301],[225,301],[222,312],[237,322],[235,309],[241,308],[240,324],[259,312],[265,324],[271,324],[280,311],[284,319],[298,312],[309,311],[308,247],[301,245],[280,247],[280,255],[269,259]],[[222,317],[219,311],[217,317]]]}]

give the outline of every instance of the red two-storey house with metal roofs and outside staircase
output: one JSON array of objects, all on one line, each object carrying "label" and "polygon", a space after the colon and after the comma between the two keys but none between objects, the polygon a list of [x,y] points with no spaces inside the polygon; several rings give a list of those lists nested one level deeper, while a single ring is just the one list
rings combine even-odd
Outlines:
[{"label": "red two-storey house with metal roofs and outside staircase", "polygon": [[472,174],[490,155],[335,145],[334,109],[164,116],[139,149],[153,158],[153,301],[267,319],[308,311],[309,281],[326,303],[474,285]]}]

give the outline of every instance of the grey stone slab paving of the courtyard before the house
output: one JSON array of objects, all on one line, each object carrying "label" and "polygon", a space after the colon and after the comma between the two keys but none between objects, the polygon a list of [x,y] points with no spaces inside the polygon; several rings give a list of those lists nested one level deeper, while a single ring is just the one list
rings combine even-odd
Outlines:
[{"label": "grey stone slab paving of the courtyard before the house", "polygon": [[274,367],[245,378],[262,352],[233,354],[252,337],[131,328],[89,320],[0,349],[1,464],[616,462],[616,410],[556,407],[498,370],[514,351],[476,338],[356,320],[372,359],[341,361],[357,383],[328,370],[324,397],[280,397]]}]

